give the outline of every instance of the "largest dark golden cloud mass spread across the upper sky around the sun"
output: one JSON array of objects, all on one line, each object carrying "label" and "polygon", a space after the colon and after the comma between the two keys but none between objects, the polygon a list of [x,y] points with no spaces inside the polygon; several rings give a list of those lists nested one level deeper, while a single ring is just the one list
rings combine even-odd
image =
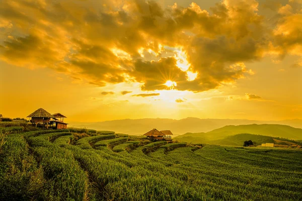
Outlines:
[{"label": "largest dark golden cloud mass spread across the upper sky around the sun", "polygon": [[[273,10],[275,21],[259,7]],[[245,62],[302,56],[298,8],[295,1],[254,0],[223,0],[210,12],[196,3],[163,8],[144,0],[7,1],[0,6],[0,59],[98,87],[138,82],[144,91],[206,91],[251,76]],[[169,88],[168,80],[177,85]]]}]

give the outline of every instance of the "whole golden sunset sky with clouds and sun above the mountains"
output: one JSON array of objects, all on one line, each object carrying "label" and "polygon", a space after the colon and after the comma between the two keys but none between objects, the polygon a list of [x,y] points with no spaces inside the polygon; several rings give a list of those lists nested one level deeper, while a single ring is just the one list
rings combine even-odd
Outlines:
[{"label": "whole golden sunset sky with clouds and sun above the mountains", "polygon": [[302,0],[4,0],[0,114],[302,119]]}]

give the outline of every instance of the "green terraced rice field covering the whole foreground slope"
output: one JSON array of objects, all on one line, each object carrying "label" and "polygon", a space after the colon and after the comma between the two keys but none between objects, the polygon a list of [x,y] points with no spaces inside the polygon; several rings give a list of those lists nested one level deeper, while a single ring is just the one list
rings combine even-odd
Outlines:
[{"label": "green terraced rice field covering the whole foreground slope", "polygon": [[0,130],[0,199],[302,200],[300,149]]}]

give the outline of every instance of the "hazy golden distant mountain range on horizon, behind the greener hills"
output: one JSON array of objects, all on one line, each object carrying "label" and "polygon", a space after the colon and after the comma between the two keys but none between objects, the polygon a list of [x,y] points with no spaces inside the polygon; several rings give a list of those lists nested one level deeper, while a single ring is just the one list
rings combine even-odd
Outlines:
[{"label": "hazy golden distant mountain range on horizon, behind the greener hills", "polygon": [[245,119],[199,119],[186,118],[174,119],[124,119],[104,122],[69,122],[70,127],[89,128],[96,130],[109,130],[116,133],[142,135],[151,129],[171,130],[174,137],[184,133],[209,132],[228,125],[249,125],[249,124],[280,124],[295,128],[302,128],[302,120],[283,121],[257,121]]}]

